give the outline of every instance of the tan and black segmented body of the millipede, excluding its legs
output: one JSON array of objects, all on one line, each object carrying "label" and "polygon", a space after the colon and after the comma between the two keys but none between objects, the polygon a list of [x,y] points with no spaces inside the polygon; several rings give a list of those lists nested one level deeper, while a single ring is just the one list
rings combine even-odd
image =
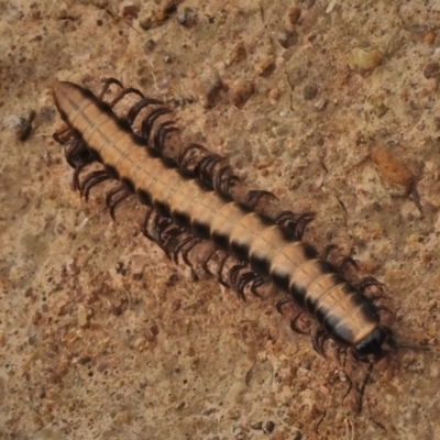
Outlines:
[{"label": "tan and black segmented body of the millipede, excluding its legs", "polygon": [[384,353],[382,345],[392,341],[392,333],[381,324],[377,308],[314,248],[296,240],[292,230],[152,154],[148,140],[135,134],[89,90],[56,81],[53,94],[63,120],[85,148],[143,204],[249,263],[254,274],[317,319],[319,338],[330,337],[361,359]]}]

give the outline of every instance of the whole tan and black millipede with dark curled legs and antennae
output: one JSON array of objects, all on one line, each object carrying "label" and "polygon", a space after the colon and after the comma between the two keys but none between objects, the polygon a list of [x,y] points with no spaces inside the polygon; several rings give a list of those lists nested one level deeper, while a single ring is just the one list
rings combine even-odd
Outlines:
[{"label": "whole tan and black millipede with dark curled legs and antennae", "polygon": [[[111,85],[121,90],[106,102],[103,97]],[[293,330],[305,332],[300,320],[312,317],[317,323],[314,349],[324,354],[324,343],[330,339],[339,351],[351,352],[355,361],[367,363],[369,374],[375,362],[394,350],[428,350],[397,343],[393,338],[391,327],[381,320],[381,311],[388,309],[376,304],[382,295],[370,294],[370,287],[381,286],[378,280],[369,276],[350,283],[341,267],[355,265],[351,257],[333,264],[329,258],[332,245],[319,254],[302,241],[312,212],[262,212],[256,209],[258,201],[271,197],[264,190],[251,190],[243,199],[234,197],[231,189],[239,177],[223,157],[202,145],[193,143],[177,157],[167,155],[165,140],[178,129],[170,120],[160,122],[170,112],[161,100],[145,97],[135,88],[123,88],[114,78],[106,79],[98,95],[67,81],[55,81],[52,90],[65,122],[54,139],[64,145],[74,168],[75,189],[87,199],[96,185],[119,180],[106,196],[111,217],[122,200],[136,195],[146,207],[143,234],[168,257],[177,262],[180,255],[191,266],[190,252],[209,243],[211,251],[202,262],[205,272],[242,299],[245,289],[258,295],[264,284],[283,292],[276,309],[283,312],[287,304],[293,304],[299,310],[290,320]],[[113,108],[127,95],[139,99],[121,118]],[[140,129],[134,129],[143,110],[147,113]],[[96,162],[103,169],[80,179],[81,170]],[[209,262],[215,255],[220,255],[220,261],[212,273]],[[235,264],[228,266],[231,258]]]}]

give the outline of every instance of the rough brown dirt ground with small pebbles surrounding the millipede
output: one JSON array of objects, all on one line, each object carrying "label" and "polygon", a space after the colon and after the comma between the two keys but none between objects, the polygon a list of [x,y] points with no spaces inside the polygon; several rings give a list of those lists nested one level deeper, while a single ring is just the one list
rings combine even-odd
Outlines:
[{"label": "rough brown dirt ground with small pebbles surrounding the millipede", "polygon": [[[0,1],[0,438],[440,438],[439,33],[438,1]],[[80,199],[50,85],[109,76],[317,212],[306,240],[382,280],[396,339],[432,351],[381,361],[356,415],[352,373],[273,299],[194,280],[135,200],[113,222],[106,186]]]}]

